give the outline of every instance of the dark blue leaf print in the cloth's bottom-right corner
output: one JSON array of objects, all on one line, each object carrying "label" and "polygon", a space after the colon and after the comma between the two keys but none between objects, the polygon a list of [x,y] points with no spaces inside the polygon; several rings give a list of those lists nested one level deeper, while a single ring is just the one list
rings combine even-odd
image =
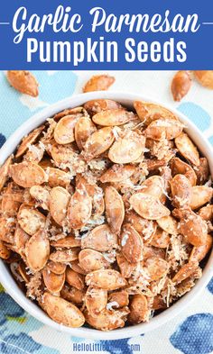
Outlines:
[{"label": "dark blue leaf print in the cloth's bottom-right corner", "polygon": [[171,344],[184,354],[207,354],[213,350],[213,315],[197,313],[188,317],[171,335]]}]

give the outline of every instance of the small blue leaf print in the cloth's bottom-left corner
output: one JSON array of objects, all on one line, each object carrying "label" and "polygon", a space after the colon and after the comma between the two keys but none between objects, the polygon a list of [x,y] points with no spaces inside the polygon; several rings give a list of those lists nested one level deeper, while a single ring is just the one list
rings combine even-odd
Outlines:
[{"label": "small blue leaf print in the cloth's bottom-left corner", "polygon": [[19,335],[10,334],[0,340],[0,352],[3,354],[34,353],[41,348],[41,344],[36,343],[25,333]]}]

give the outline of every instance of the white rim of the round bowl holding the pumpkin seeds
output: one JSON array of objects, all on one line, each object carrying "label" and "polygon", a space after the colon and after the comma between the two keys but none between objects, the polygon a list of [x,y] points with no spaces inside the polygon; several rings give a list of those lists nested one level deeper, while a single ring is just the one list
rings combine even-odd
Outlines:
[{"label": "white rim of the round bowl holding the pumpkin seeds", "polygon": [[[23,123],[19,129],[17,129],[13,135],[5,142],[5,145],[0,150],[0,165],[5,161],[5,159],[14,152],[15,148],[22,140],[23,136],[31,132],[33,129],[41,125],[46,118],[51,117],[54,113],[58,113],[65,108],[75,107],[91,99],[97,98],[109,98],[132,107],[134,100],[143,100],[148,102],[153,102],[149,97],[143,95],[133,95],[122,92],[92,92],[88,94],[81,94],[65,98],[64,100],[51,104],[50,107],[45,108],[42,112],[36,113],[28,121]],[[156,103],[156,102],[155,102]],[[163,103],[162,104],[166,107]],[[199,129],[190,122],[190,120],[182,113],[168,107],[173,113],[177,114],[182,123],[187,126],[186,132],[190,135],[190,138],[199,147],[202,154],[208,158],[208,163],[211,169],[211,174],[213,175],[213,150],[208,141],[203,137]],[[184,295],[176,304],[173,304],[169,309],[163,311],[162,313],[156,315],[151,319],[150,322],[140,323],[134,326],[117,329],[115,331],[97,331],[90,328],[69,328],[62,326],[56,322],[53,322],[40,307],[33,304],[23,292],[16,285],[14,278],[11,276],[10,271],[6,267],[5,263],[0,260],[0,283],[5,287],[5,290],[9,295],[14,298],[17,304],[23,307],[25,311],[30,313],[37,320],[51,326],[55,330],[64,331],[72,336],[88,338],[93,340],[116,340],[121,338],[129,338],[141,333],[152,331],[153,329],[161,326],[163,323],[170,321],[181,311],[202,291],[202,289],[207,286],[210,278],[213,276],[213,252],[208,259],[208,263],[203,271],[203,276],[199,279],[197,284],[190,290],[190,292]]]}]

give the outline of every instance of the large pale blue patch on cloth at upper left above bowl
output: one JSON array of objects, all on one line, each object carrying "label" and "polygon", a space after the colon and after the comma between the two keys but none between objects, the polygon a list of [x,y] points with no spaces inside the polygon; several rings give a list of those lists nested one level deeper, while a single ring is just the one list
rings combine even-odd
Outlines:
[{"label": "large pale blue patch on cloth at upper left above bowl", "polygon": [[[71,71],[59,71],[48,75],[47,71],[32,71],[40,83],[39,97],[22,95],[9,86],[5,74],[0,71],[1,90],[1,132],[8,138],[23,122],[45,106],[72,95],[76,85],[76,75]],[[8,104],[10,97],[10,104]],[[29,108],[30,103],[31,108]],[[10,117],[4,122],[5,117]]]}]

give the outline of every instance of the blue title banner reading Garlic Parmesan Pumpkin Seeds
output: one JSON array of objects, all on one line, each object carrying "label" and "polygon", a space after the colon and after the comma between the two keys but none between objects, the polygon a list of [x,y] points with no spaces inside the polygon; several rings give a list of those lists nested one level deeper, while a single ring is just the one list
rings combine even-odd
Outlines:
[{"label": "blue title banner reading Garlic Parmesan Pumpkin Seeds", "polygon": [[[21,6],[25,10],[16,13]],[[38,31],[42,16],[52,14],[54,17],[58,6],[63,6],[63,14],[60,14],[58,24],[55,17],[56,31],[53,31],[51,17],[43,31]],[[89,12],[94,7],[103,8],[106,18],[100,10],[99,24],[92,32],[95,12]],[[119,29],[122,14],[127,14],[128,18]],[[144,25],[146,20],[143,18],[141,28],[136,31],[134,14],[149,15],[148,25]],[[187,16],[193,14],[198,15],[194,32],[192,19],[187,22]],[[62,25],[66,27],[66,16],[67,26],[70,21],[74,22],[74,31],[62,30]],[[132,32],[127,23],[132,23]],[[171,30],[167,31],[169,27]],[[24,28],[22,39],[21,29]],[[15,36],[19,43],[14,43]],[[8,0],[0,10],[0,69],[210,69],[213,65],[212,38],[211,0]],[[114,50],[109,41],[115,43]]]}]

